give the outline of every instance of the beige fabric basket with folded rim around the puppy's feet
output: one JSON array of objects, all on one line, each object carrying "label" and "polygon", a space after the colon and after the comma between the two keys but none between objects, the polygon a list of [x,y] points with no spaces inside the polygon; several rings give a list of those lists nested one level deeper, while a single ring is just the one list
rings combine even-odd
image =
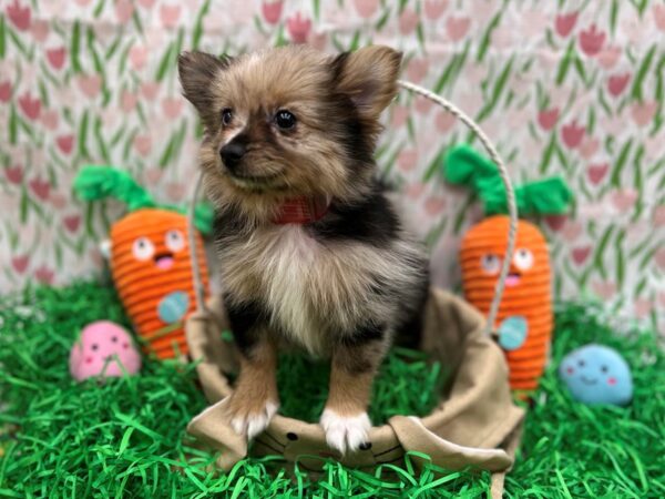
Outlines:
[{"label": "beige fabric basket with folded rim around the puppy's feet", "polygon": [[[400,462],[405,452],[416,450],[447,469],[509,469],[524,414],[512,401],[503,353],[484,332],[483,317],[447,292],[431,289],[424,314],[421,349],[452,370],[441,404],[429,416],[392,417],[387,425],[371,428],[367,449],[339,456],[328,448],[320,426],[276,415],[256,438],[253,455],[283,455],[287,461],[298,459],[301,469],[317,471],[323,460],[303,456],[334,457],[350,467],[372,468]],[[227,328],[218,297],[208,303],[208,310],[194,314],[186,328],[190,352],[201,359],[198,377],[212,404],[192,419],[187,430],[222,451],[217,460],[222,469],[247,455],[245,437],[233,430],[223,414],[224,398],[233,390],[224,373],[237,369],[235,346],[221,335]]]}]

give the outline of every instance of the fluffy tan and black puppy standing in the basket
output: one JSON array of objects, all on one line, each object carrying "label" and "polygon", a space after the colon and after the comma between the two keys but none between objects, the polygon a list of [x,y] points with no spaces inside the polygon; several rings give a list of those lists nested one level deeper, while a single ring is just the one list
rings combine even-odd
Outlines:
[{"label": "fluffy tan and black puppy standing in the basket", "polygon": [[277,411],[277,350],[331,360],[320,425],[341,454],[367,440],[367,406],[400,332],[418,334],[427,261],[376,180],[379,115],[401,54],[285,47],[237,58],[185,52],[185,98],[217,212],[224,302],[242,353],[226,401],[252,438]]}]

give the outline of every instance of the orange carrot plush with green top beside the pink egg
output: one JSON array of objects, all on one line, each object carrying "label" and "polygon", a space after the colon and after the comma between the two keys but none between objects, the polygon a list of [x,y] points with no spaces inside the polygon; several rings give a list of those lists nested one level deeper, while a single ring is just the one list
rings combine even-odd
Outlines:
[{"label": "orange carrot plush with green top beside the pink egg", "polygon": [[[190,248],[185,215],[175,206],[157,206],[125,172],[86,166],[74,190],[86,201],[113,195],[127,204],[130,213],[111,227],[113,281],[146,353],[162,359],[187,354],[184,319],[195,308],[191,251],[197,252],[207,287],[201,235]],[[209,232],[211,221],[212,212],[197,206],[196,227]]]}]

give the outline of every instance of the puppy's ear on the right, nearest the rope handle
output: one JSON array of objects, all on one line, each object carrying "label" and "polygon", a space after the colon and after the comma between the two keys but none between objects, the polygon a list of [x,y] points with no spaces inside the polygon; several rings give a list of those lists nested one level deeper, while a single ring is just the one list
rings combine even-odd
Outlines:
[{"label": "puppy's ear on the right, nearest the rope handle", "polygon": [[383,45],[339,54],[332,61],[337,90],[351,99],[362,118],[377,119],[397,94],[401,57]]}]

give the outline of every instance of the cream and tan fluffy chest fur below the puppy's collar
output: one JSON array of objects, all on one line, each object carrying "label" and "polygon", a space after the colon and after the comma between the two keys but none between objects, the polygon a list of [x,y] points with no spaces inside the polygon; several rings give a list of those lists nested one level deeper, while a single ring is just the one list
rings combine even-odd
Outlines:
[{"label": "cream and tan fluffy chest fur below the puppy's collar", "polygon": [[219,256],[231,298],[258,303],[274,327],[315,355],[365,324],[395,327],[400,301],[408,302],[405,293],[421,278],[419,253],[406,241],[396,237],[379,247],[321,238],[294,224],[223,237]]}]

